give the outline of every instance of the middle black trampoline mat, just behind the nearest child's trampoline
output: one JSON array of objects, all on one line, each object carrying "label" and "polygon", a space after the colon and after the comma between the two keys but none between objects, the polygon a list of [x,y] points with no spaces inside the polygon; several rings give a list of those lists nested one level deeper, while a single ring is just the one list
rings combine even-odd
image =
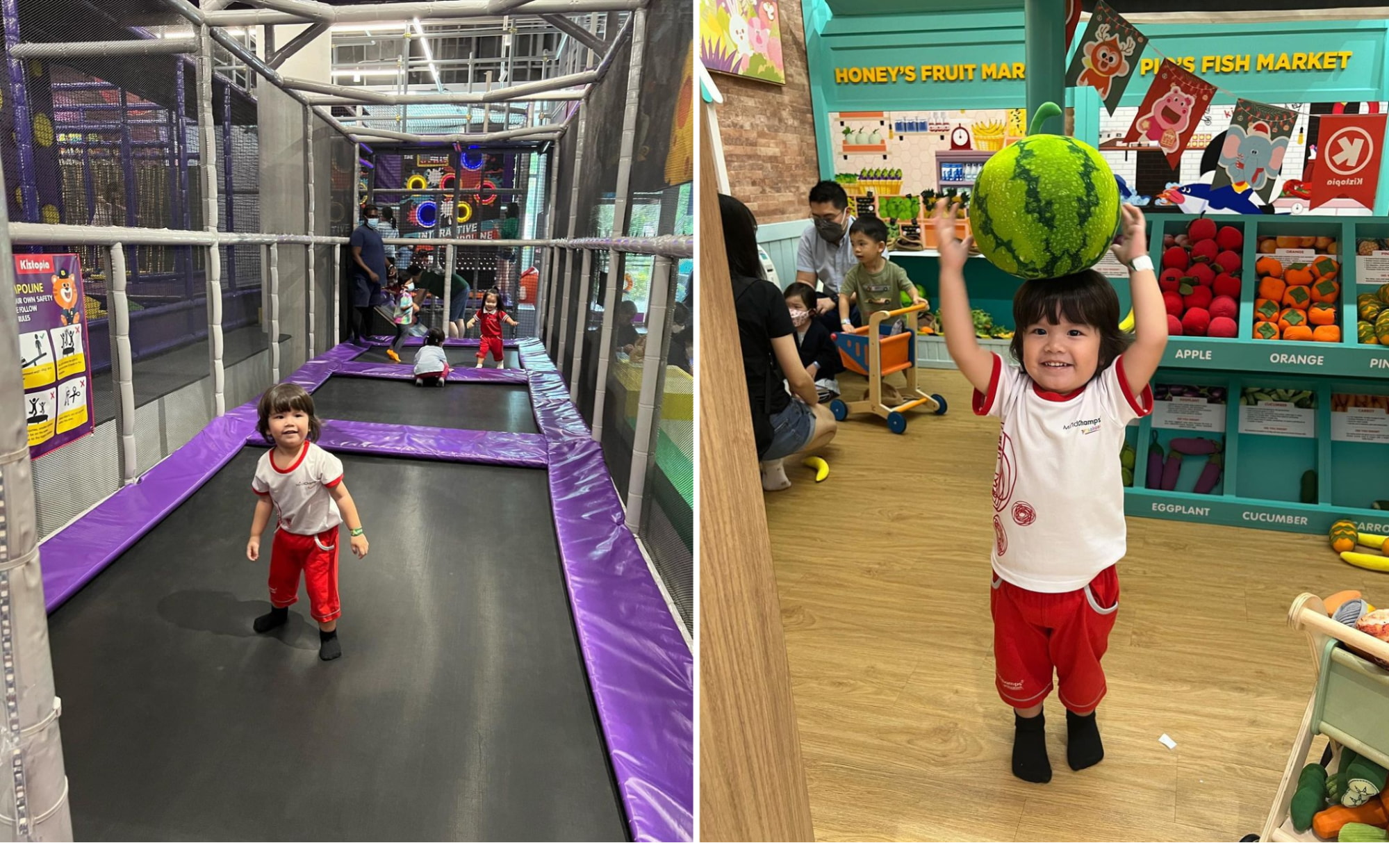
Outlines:
[{"label": "middle black trampoline mat, just behind the nearest child's trampoline", "polygon": [[[333,375],[314,390],[319,418],[390,425],[539,433],[525,383],[415,386],[414,381]],[[250,481],[247,481],[250,482]]]}]

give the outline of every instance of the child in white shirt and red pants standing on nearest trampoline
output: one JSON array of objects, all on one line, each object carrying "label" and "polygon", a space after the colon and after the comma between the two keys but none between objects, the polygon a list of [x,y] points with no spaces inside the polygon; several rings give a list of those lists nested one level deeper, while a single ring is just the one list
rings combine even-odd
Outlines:
[{"label": "child in white shirt and red pants standing on nearest trampoline", "polygon": [[314,399],[303,387],[281,383],[260,400],[260,425],[265,451],[256,465],[251,489],[260,497],[251,519],[246,558],[260,560],[260,537],[278,512],[275,543],[269,557],[271,610],[256,618],[256,632],[269,632],[285,624],[289,607],[299,600],[299,574],[304,574],[310,612],[318,621],[318,657],[332,661],[342,656],[338,643],[338,525],[347,521],[351,551],[367,556],[367,535],[357,517],[357,504],[343,483],[342,460],[314,444],[322,426],[314,415]]}]

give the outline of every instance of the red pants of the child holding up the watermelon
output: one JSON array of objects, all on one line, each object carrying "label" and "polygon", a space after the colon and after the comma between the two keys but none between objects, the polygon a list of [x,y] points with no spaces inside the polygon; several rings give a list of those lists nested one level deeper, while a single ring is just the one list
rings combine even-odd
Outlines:
[{"label": "red pants of the child holding up the watermelon", "polygon": [[1058,697],[1068,710],[1086,715],[1104,699],[1100,658],[1120,608],[1120,578],[1110,565],[1076,592],[1042,594],[993,575],[995,685],[1003,701],[1031,708],[1051,692],[1051,671],[1061,683]]}]

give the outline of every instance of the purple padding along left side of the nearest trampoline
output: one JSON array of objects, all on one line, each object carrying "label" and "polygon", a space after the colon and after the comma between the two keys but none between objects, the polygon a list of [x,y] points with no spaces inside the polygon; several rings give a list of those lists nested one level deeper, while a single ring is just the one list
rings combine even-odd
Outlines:
[{"label": "purple padding along left side of the nearest trampoline", "polygon": [[[53,611],[226,465],[256,429],[256,406],[214,418],[135,483],[43,542],[44,608]],[[250,481],[247,481],[250,483]]]}]

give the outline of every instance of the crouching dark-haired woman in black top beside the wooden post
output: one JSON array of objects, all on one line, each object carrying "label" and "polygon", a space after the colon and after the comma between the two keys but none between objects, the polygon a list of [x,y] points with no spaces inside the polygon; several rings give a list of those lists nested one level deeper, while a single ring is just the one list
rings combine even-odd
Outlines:
[{"label": "crouching dark-haired woman in black top beside the wooden post", "polygon": [[828,444],[835,437],[835,417],[820,403],[815,382],[800,361],[796,326],[782,292],[763,278],[757,219],[732,196],[720,194],[718,210],[763,489],[776,492],[790,486],[782,461]]}]

